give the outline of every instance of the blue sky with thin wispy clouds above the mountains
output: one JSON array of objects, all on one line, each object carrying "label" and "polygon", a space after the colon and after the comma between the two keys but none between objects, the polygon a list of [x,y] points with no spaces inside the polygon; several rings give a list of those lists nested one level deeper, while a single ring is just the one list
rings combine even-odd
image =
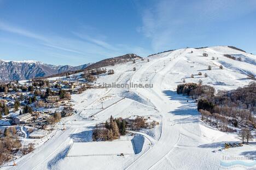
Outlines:
[{"label": "blue sky with thin wispy clouds above the mountains", "polygon": [[256,1],[0,0],[0,59],[80,65],[233,45],[256,53]]}]

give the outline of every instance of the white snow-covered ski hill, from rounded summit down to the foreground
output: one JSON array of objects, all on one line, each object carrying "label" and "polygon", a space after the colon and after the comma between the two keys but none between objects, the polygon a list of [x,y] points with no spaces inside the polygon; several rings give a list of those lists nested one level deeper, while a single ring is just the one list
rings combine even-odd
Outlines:
[{"label": "white snow-covered ski hill, from rounded summit down to the foreground", "polygon": [[[203,53],[208,57],[203,57]],[[224,54],[241,57],[241,61]],[[72,95],[76,112],[62,118],[46,137],[31,139],[43,142],[32,153],[16,159],[17,166],[8,166],[13,163],[9,162],[1,169],[246,169],[225,167],[225,162],[230,161],[223,157],[255,157],[256,141],[223,149],[225,143],[240,142],[237,134],[220,132],[201,122],[196,102],[178,95],[176,87],[183,79],[195,83],[202,80],[216,90],[246,86],[252,81],[247,74],[256,75],[255,59],[252,54],[216,46],[184,48],[137,59],[136,63],[107,66],[115,74],[99,75],[97,84],[140,83],[153,87],[92,88]],[[207,69],[209,65],[212,70]],[[223,69],[219,69],[220,65]],[[136,71],[132,71],[134,67]],[[152,129],[129,131],[114,141],[92,141],[94,126],[106,122],[110,116],[130,119],[142,116],[158,124]],[[62,130],[63,124],[66,130]]]}]

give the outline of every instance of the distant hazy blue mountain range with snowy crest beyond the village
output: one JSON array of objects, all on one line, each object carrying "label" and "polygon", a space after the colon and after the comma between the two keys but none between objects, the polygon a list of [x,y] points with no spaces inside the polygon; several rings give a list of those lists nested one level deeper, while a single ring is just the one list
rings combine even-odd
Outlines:
[{"label": "distant hazy blue mountain range with snowy crest beyond the village", "polygon": [[51,65],[42,62],[0,60],[0,81],[28,80],[34,77],[45,77],[61,72],[85,69],[89,64],[79,66]]}]

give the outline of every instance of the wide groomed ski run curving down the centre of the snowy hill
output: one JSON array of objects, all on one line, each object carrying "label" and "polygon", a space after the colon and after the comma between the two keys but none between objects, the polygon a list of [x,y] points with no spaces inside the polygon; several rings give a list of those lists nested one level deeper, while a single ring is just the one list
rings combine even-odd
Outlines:
[{"label": "wide groomed ski run curving down the centre of the snowy hill", "polygon": [[[154,64],[163,63],[163,61],[166,60],[166,58],[155,60],[152,62],[152,65],[149,65],[149,67],[154,68]],[[176,59],[177,60],[177,59]],[[161,89],[161,83],[167,73],[168,70],[172,68],[173,65],[175,65],[176,62],[173,62],[171,64],[166,65],[165,68],[157,72],[157,75],[154,76],[153,80],[150,80],[150,83],[154,84],[154,88],[150,89],[148,92],[147,89],[139,89],[139,93],[142,95],[147,96],[147,98],[151,99],[151,102],[158,108],[160,114],[162,115],[162,132],[161,132],[161,138],[159,141],[154,145],[154,147],[147,151],[146,154],[139,157],[138,160],[133,162],[129,167],[126,169],[150,169],[153,168],[156,163],[161,161],[174,147],[174,145],[177,144],[179,141],[180,127],[178,125],[171,126],[171,122],[168,122],[168,119],[172,119],[171,117],[171,109],[174,110],[177,107],[178,101],[170,101],[168,96],[165,96],[162,93]],[[141,71],[147,71],[148,69],[144,69]],[[137,75],[143,75],[143,72],[138,73]],[[135,78],[134,78],[135,79]],[[171,127],[170,127],[171,126]],[[154,156],[153,156],[154,155]],[[147,162],[147,163],[143,163]]]}]

